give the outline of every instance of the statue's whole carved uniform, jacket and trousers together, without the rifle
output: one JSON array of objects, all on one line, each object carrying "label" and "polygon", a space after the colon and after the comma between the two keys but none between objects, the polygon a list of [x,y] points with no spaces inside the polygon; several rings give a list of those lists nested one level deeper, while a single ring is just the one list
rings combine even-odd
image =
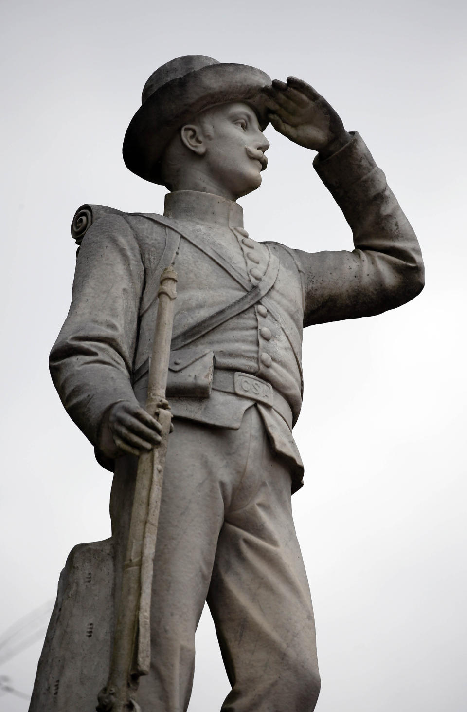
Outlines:
[{"label": "statue's whole carved uniform, jacket and trousers together, without the rifle", "polygon": [[[166,263],[179,278],[173,343],[182,345],[171,356],[175,428],[155,557],[154,661],[139,693],[144,709],[188,706],[206,597],[232,683],[224,711],[305,712],[316,703],[313,612],[290,505],[303,474],[291,434],[301,407],[302,331],[408,301],[422,288],[422,261],[357,134],[314,165],[350,224],[352,252],[259,243],[245,231],[239,205],[188,191],[168,194],[164,216],[109,215],[82,241],[50,368],[65,408],[98,453],[109,407],[144,402],[154,285]],[[190,340],[197,323],[268,278],[256,303]],[[117,459],[117,542],[127,531],[134,471],[132,456]]]}]

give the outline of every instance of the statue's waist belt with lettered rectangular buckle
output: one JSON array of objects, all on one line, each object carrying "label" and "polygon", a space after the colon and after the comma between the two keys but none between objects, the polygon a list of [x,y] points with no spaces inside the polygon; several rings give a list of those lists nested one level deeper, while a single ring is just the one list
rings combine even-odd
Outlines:
[{"label": "statue's waist belt with lettered rectangular buckle", "polygon": [[215,368],[213,373],[213,390],[223,393],[235,393],[237,396],[249,398],[257,403],[263,403],[284,419],[289,429],[292,429],[293,416],[291,407],[284,396],[274,390],[272,385],[262,378],[241,371],[228,371]]}]

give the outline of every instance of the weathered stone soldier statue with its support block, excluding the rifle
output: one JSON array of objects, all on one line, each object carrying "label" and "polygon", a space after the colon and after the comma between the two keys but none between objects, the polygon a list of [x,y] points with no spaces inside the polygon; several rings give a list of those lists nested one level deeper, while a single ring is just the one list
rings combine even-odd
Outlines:
[{"label": "weathered stone soldier statue with its support block, excluding the rifle", "polygon": [[[245,230],[237,199],[261,184],[269,121],[318,152],[313,166],[353,231],[353,251],[308,253]],[[168,62],[146,82],[123,154],[170,192],[163,216],[87,206],[75,221],[73,300],[50,370],[114,472],[112,538],[69,557],[31,710],[91,711],[107,679],[136,464],[161,437],[143,405],[159,278],[173,266],[173,432],[151,667],[137,701],[143,712],[186,711],[207,600],[232,685],[222,710],[311,712],[320,687],[313,610],[291,516],[304,472],[292,436],[303,328],[414,298],[423,286],[417,238],[358,133],[296,78],[271,82],[204,56]]]}]

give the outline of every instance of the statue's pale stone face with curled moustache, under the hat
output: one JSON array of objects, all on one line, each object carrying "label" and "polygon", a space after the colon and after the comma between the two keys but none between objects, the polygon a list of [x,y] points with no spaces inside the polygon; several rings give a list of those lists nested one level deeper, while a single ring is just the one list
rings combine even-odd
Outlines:
[{"label": "statue's pale stone face with curled moustache, under the hat", "polygon": [[223,194],[236,200],[259,188],[269,141],[254,110],[243,102],[222,104],[203,112],[200,125],[205,137],[204,170]]}]

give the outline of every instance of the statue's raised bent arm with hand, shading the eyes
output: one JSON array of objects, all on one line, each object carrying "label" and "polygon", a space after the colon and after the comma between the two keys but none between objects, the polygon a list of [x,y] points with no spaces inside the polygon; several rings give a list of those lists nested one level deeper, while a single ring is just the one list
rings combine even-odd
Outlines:
[{"label": "statue's raised bent arm with hand, shading the eyes", "polygon": [[265,89],[274,127],[318,151],[313,165],[353,231],[353,251],[297,250],[304,268],[304,325],[371,316],[414,298],[424,271],[417,237],[358,134],[301,80]]}]

